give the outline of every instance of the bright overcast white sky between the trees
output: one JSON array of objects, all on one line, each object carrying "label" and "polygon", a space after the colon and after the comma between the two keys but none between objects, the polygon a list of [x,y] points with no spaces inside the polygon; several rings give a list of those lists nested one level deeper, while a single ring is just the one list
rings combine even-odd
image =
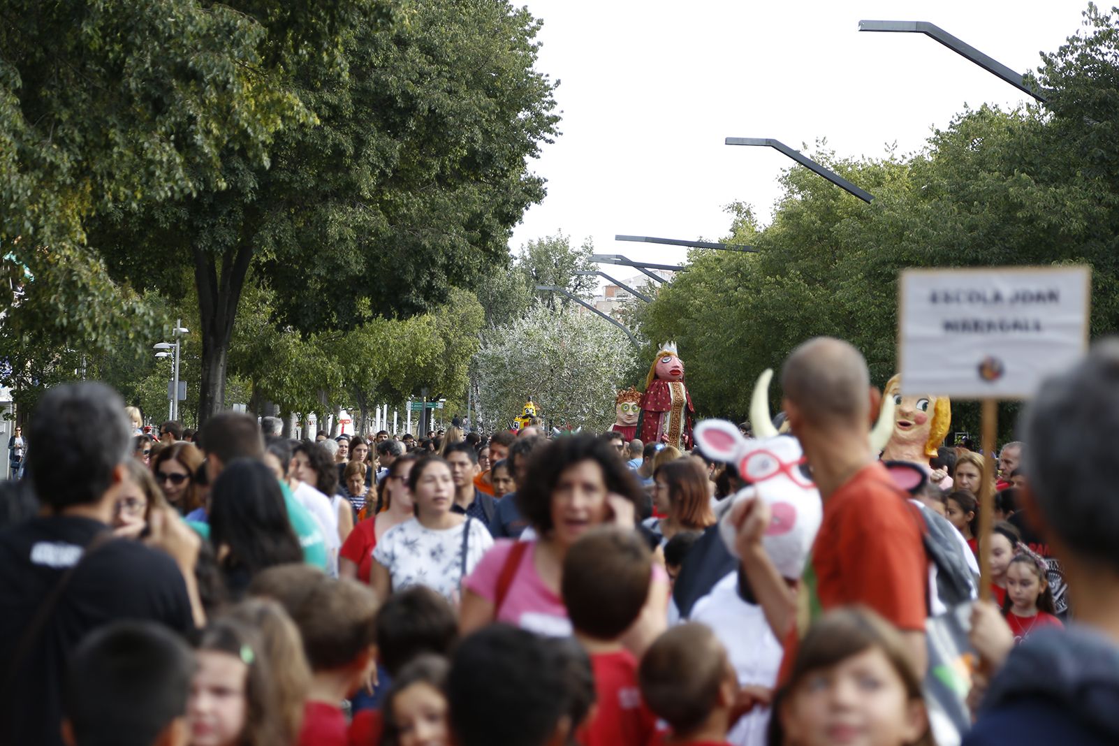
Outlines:
[{"label": "bright overcast white sky between the trees", "polygon": [[[1104,7],[1109,2],[1100,3]],[[548,195],[515,252],[563,230],[603,254],[677,263],[687,249],[614,234],[716,239],[741,200],[768,221],[792,161],[726,136],[840,155],[920,148],[965,104],[1014,106],[1017,88],[919,34],[858,21],[924,20],[1019,73],[1081,28],[1088,0],[528,0],[544,20],[537,68],[560,79],[563,134],[530,168]],[[852,197],[854,199],[854,197]],[[621,270],[619,270],[621,271]]]}]

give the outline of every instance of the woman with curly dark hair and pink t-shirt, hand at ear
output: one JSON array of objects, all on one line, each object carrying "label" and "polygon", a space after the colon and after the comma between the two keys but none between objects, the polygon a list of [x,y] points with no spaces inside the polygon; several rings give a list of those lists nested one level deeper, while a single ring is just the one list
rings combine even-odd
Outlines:
[{"label": "woman with curly dark hair and pink t-shirt, hand at ear", "polygon": [[[528,463],[525,484],[516,492],[517,507],[538,538],[498,540],[482,557],[462,586],[462,634],[495,621],[539,634],[571,634],[560,597],[567,548],[594,526],[632,528],[641,498],[633,473],[604,441],[575,435],[538,448]],[[631,631],[632,645],[641,649],[650,634],[664,629],[668,603],[664,570],[650,582],[648,613]]]}]

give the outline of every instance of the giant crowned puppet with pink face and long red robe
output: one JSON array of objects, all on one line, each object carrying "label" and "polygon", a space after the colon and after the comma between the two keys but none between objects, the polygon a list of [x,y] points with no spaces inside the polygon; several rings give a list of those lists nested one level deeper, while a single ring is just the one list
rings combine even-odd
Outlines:
[{"label": "giant crowned puppet with pink face and long red robe", "polygon": [[646,443],[690,448],[693,412],[692,397],[684,385],[684,362],[676,352],[676,342],[668,342],[657,352],[649,368],[637,436]]}]

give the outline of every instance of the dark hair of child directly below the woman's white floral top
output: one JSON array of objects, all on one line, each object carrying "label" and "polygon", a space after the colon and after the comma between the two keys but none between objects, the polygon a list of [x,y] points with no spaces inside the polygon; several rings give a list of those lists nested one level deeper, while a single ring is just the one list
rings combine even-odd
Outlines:
[{"label": "dark hair of child directly below the woman's white floral top", "polygon": [[454,610],[435,591],[413,585],[388,596],[377,612],[377,654],[388,676],[424,653],[449,655],[459,639]]}]

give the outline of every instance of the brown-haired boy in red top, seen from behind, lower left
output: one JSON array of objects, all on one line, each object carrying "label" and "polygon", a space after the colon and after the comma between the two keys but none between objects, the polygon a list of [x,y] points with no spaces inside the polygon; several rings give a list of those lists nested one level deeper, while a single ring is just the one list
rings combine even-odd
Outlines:
[{"label": "brown-haired boy in red top, seen from behind, lower left", "polygon": [[[280,577],[274,575],[269,582]],[[376,665],[377,597],[357,580],[303,574],[302,587],[275,598],[299,627],[311,665],[299,744],[346,746],[346,716],[338,705],[368,680]]]}]

